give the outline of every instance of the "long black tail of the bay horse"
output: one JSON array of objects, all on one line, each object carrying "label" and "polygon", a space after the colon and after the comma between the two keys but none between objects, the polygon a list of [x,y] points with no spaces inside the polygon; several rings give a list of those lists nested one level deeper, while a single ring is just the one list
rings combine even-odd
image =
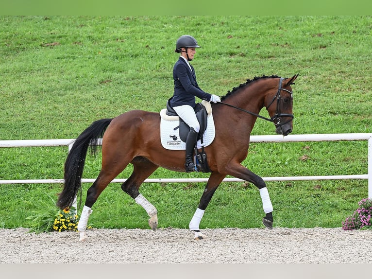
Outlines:
[{"label": "long black tail of the bay horse", "polygon": [[97,150],[99,139],[113,119],[101,119],[93,122],[75,140],[65,162],[64,188],[58,196],[57,207],[66,209],[71,207],[75,197],[80,192],[79,207],[82,199],[81,178],[83,175],[85,157],[90,145],[91,153]]}]

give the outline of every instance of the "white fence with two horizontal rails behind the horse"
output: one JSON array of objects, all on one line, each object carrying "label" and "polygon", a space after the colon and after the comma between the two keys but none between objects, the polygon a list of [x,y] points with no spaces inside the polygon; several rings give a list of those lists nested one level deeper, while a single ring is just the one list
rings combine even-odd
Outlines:
[{"label": "white fence with two horizontal rails behind the horse", "polygon": [[[37,146],[68,146],[71,149],[75,139],[64,140],[0,140],[0,147],[37,147]],[[299,142],[299,141],[343,141],[368,140],[368,174],[354,175],[323,175],[323,176],[287,176],[262,177],[265,181],[288,180],[332,180],[332,179],[368,179],[368,197],[372,198],[372,133],[355,134],[312,134],[312,135],[280,135],[251,136],[251,142]],[[82,179],[83,183],[92,183],[95,179]],[[148,178],[144,182],[206,182],[208,178]],[[114,179],[112,182],[123,183],[126,179]],[[225,178],[222,182],[241,182],[238,178]],[[0,180],[0,184],[33,184],[33,183],[63,183],[63,179],[26,179]]]}]

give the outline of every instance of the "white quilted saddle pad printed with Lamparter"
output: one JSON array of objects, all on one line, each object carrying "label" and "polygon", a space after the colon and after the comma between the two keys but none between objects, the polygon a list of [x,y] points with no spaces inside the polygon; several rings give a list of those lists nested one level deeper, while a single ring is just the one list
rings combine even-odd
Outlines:
[{"label": "white quilted saddle pad printed with Lamparter", "polygon": [[[180,139],[180,129],[175,128],[180,125],[178,116],[166,115],[167,109],[164,108],[160,112],[160,140],[165,149],[170,150],[185,150],[186,143]],[[207,116],[207,128],[203,135],[203,146],[208,146],[216,136],[215,123],[213,121],[212,113]],[[197,147],[202,148],[200,140],[197,142]]]}]

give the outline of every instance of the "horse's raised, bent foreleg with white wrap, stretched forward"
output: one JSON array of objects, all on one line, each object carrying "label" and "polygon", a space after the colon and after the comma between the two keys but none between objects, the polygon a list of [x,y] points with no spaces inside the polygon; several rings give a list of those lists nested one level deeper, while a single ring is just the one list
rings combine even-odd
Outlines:
[{"label": "horse's raised, bent foreleg with white wrap, stretched forward", "polygon": [[237,178],[252,182],[260,191],[260,196],[262,200],[262,207],[266,216],[262,219],[262,223],[265,227],[272,229],[273,218],[272,218],[272,204],[270,200],[269,191],[266,187],[265,181],[262,177],[254,174],[246,167],[242,166],[241,164],[235,164],[233,167],[230,166],[228,170],[228,174],[231,174]]}]

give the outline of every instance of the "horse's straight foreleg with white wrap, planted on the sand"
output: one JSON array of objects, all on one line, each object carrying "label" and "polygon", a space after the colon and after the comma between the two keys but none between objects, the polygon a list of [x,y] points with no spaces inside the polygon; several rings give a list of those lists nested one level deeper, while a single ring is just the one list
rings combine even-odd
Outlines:
[{"label": "horse's straight foreleg with white wrap, planted on the sand", "polygon": [[190,230],[195,233],[194,240],[204,239],[204,235],[200,231],[199,225],[202,221],[205,209],[207,208],[214,192],[216,192],[217,187],[220,185],[224,177],[225,175],[223,174],[212,173],[208,179],[207,185],[205,186],[203,195],[200,199],[199,207],[196,209],[189,224]]}]

